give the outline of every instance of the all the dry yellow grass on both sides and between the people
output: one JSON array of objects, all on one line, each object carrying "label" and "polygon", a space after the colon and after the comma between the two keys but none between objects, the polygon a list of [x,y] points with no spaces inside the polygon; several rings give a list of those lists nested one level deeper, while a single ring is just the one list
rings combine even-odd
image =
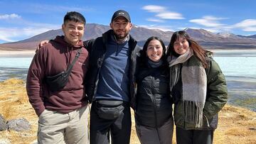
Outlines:
[{"label": "all the dry yellow grass on both sides and between the people", "polygon": [[[31,131],[0,131],[0,143],[33,143],[36,140],[38,118],[28,102],[25,83],[19,79],[0,82],[0,113],[7,119],[26,118]],[[133,115],[133,111],[132,111]],[[139,144],[132,116],[132,144]],[[256,113],[240,107],[226,105],[219,115],[213,143],[256,144]],[[174,133],[175,144],[175,133]]]}]

